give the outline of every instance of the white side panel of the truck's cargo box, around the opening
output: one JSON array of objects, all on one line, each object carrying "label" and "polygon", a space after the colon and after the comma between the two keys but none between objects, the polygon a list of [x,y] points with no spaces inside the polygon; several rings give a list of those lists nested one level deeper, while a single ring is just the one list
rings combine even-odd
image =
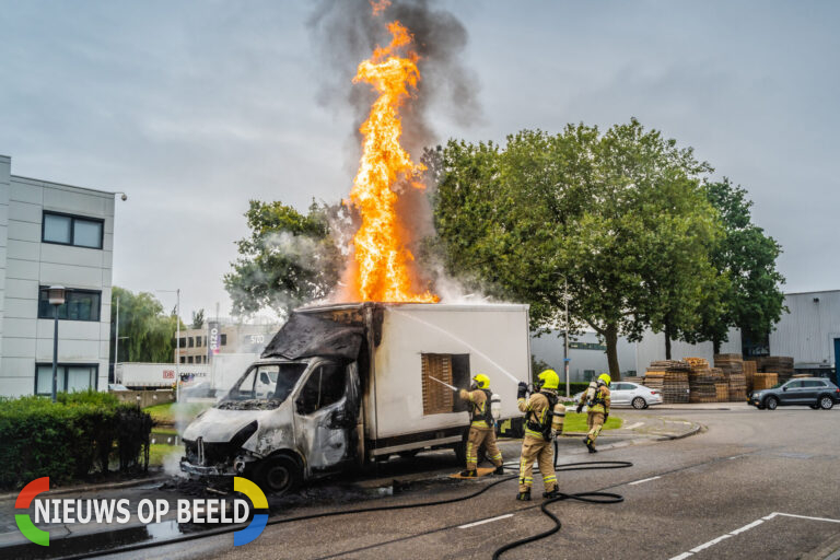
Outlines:
[{"label": "white side panel of the truck's cargo box, around the opening", "polygon": [[490,377],[490,389],[502,399],[502,418],[521,416],[516,384],[530,380],[527,305],[404,304],[386,305],[384,312],[373,402],[365,407],[368,438],[469,423],[467,412],[423,415],[423,353],[469,354],[470,377]]}]

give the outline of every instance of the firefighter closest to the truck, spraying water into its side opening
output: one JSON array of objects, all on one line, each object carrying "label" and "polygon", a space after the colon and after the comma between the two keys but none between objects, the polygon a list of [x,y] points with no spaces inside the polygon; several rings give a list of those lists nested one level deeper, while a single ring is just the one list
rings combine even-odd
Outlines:
[{"label": "firefighter closest to the truck, spraying water into its side opening", "polygon": [[493,475],[504,474],[502,452],[495,444],[495,428],[490,410],[490,378],[479,373],[472,377],[470,390],[460,389],[458,396],[469,402],[469,436],[467,439],[467,469],[460,476],[475,478],[478,476],[478,450],[485,445],[488,458],[495,465]]}]

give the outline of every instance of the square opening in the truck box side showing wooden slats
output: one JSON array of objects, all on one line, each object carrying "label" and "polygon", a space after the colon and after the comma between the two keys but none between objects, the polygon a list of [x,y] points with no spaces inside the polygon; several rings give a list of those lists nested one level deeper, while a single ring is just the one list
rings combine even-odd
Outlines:
[{"label": "square opening in the truck box side showing wooden slats", "polygon": [[423,383],[423,415],[442,415],[466,410],[466,402],[455,398],[452,389],[430,377],[459,388],[469,386],[469,354],[420,354]]}]

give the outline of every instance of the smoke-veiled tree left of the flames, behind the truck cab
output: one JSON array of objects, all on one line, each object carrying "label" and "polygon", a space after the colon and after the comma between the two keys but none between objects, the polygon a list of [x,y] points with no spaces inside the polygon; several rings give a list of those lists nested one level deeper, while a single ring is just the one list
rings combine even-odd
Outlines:
[{"label": "smoke-veiled tree left of the flames, behind the truck cab", "polygon": [[329,294],[342,262],[330,212],[335,209],[315,202],[304,215],[280,201],[250,201],[245,213],[250,236],[237,243],[240,258],[224,276],[234,313],[265,307],[288,313]]}]

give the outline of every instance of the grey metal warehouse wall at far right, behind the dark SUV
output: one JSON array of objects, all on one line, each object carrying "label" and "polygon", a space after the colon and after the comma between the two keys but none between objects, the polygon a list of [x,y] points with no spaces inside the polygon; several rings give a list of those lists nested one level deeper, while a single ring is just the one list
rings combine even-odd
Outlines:
[{"label": "grey metal warehouse wall at far right, behind the dark SUV", "polygon": [[770,334],[770,353],[792,355],[796,364],[833,365],[833,340],[840,338],[840,290],[790,293],[784,303],[790,313]]}]

